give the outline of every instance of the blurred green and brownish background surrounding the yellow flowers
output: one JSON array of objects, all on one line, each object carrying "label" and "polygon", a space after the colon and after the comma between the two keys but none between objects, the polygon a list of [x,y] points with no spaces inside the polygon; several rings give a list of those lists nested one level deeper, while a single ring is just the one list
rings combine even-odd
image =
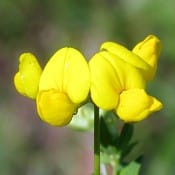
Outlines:
[{"label": "blurred green and brownish background surrounding the yellow flowers", "polygon": [[22,52],[45,65],[59,48],[72,46],[87,58],[111,40],[132,48],[148,34],[163,44],[150,94],[164,109],[135,125],[144,152],[140,175],[175,174],[174,0],[0,1],[0,175],[89,175],[93,135],[54,128],[37,117],[35,102],[14,89]]}]

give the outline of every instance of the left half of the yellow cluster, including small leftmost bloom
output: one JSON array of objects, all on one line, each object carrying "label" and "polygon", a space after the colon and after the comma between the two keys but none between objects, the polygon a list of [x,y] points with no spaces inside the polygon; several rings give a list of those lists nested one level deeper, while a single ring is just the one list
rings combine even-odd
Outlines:
[{"label": "left half of the yellow cluster, including small leftmost bloom", "polygon": [[21,57],[24,56],[14,78],[17,91],[36,98],[43,121],[55,126],[68,124],[89,93],[90,73],[84,56],[76,49],[62,48],[51,57],[42,73],[32,54]]}]

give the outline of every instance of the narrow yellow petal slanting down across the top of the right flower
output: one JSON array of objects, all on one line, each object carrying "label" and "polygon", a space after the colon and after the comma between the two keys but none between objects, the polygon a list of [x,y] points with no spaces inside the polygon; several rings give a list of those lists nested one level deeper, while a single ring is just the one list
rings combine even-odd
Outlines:
[{"label": "narrow yellow petal slanting down across the top of the right flower", "polygon": [[118,43],[105,42],[102,44],[101,50],[106,50],[110,53],[113,53],[114,55],[117,55],[123,59],[125,62],[144,71],[150,69],[150,66],[144,60]]}]

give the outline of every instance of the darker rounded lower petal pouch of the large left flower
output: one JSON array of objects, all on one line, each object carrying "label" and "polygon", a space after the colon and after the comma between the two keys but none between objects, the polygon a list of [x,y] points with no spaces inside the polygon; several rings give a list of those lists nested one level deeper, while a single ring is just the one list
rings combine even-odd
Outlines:
[{"label": "darker rounded lower petal pouch of the large left flower", "polygon": [[50,125],[64,126],[68,124],[76,107],[68,96],[54,89],[40,91],[37,96],[38,114],[43,121]]}]

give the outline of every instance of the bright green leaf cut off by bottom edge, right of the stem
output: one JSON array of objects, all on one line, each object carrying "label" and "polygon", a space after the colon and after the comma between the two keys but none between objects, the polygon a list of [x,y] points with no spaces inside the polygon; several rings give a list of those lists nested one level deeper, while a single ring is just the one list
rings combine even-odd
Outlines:
[{"label": "bright green leaf cut off by bottom edge, right of the stem", "polygon": [[138,175],[141,164],[133,161],[128,164],[126,167],[122,168],[118,175]]}]

